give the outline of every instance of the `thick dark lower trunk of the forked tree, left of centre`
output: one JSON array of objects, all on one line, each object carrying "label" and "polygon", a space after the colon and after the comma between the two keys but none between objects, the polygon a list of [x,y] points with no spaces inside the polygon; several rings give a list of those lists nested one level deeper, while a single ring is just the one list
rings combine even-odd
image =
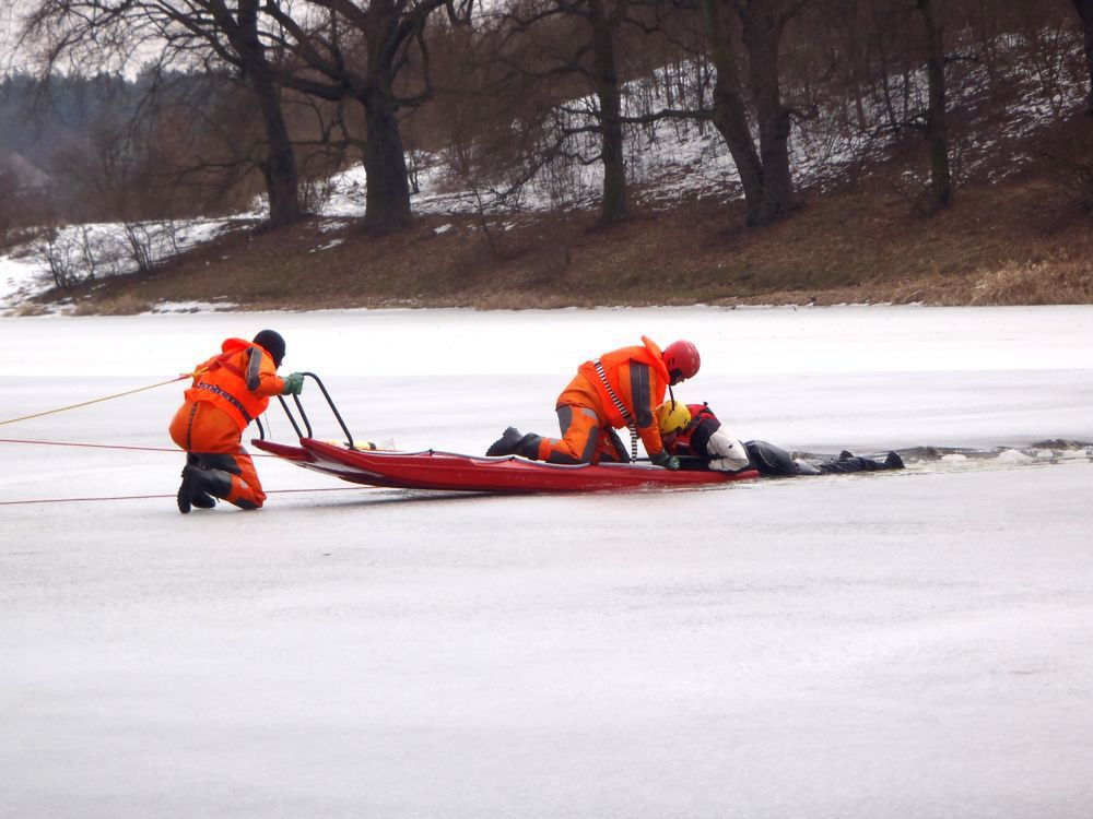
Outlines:
[{"label": "thick dark lower trunk of the forked tree, left of centre", "polygon": [[367,175],[364,226],[400,230],[410,224],[410,181],[390,85],[373,82],[357,98],[368,129],[363,156]]}]

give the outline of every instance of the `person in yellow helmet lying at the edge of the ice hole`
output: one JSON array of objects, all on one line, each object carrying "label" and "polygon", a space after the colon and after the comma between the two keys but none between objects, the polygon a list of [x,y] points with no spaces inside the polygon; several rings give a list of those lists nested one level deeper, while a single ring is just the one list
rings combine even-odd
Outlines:
[{"label": "person in yellow helmet lying at the edge of the ice hole", "polygon": [[883,461],[857,458],[845,450],[838,458],[804,461],[794,459],[786,450],[767,441],[742,442],[721,426],[706,404],[666,401],[657,407],[656,415],[665,449],[673,455],[705,459],[705,463],[700,462],[701,468],[757,470],[761,475],[781,476],[903,468],[903,459],[895,452],[889,452]]}]

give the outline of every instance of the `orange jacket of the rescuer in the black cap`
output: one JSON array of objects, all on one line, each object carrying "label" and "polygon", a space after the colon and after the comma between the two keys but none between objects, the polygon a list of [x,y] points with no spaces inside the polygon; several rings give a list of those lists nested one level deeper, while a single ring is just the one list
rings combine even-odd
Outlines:
[{"label": "orange jacket of the rescuer in the black cap", "polygon": [[277,375],[270,354],[257,344],[228,339],[219,356],[195,368],[193,383],[186,391],[188,401],[208,401],[227,413],[242,432],[266,412],[270,395],[284,391],[284,380]]}]

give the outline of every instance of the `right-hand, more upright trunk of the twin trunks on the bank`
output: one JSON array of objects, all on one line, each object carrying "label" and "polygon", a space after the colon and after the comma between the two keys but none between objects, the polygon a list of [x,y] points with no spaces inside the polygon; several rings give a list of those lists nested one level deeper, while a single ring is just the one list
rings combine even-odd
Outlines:
[{"label": "right-hand, more upright trunk of the twin trunks on the bank", "polygon": [[781,24],[769,0],[748,0],[740,7],[743,40],[751,67],[750,81],[759,120],[760,163],[763,166],[763,223],[776,222],[794,206],[789,168],[789,110],[781,104],[778,48]]}]

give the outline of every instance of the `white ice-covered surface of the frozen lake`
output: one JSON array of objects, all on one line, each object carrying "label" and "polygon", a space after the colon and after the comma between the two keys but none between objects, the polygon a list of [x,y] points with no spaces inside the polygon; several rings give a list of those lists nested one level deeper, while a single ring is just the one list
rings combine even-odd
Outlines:
[{"label": "white ice-covered surface of the frozen lake", "polygon": [[644,332],[742,437],[1000,454],[515,498],[262,459],[265,510],[183,517],[179,384],[5,425],[0,816],[1089,815],[1093,464],[1032,444],[1093,440],[1093,308],[3,318],[0,420],[263,327],[403,449],[553,431]]}]

